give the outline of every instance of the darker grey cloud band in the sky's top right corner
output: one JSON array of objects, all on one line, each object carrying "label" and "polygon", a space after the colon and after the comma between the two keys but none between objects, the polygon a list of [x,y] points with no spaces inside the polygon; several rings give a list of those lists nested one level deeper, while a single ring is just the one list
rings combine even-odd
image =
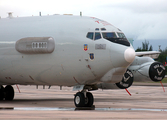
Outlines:
[{"label": "darker grey cloud band in the sky's top right corner", "polygon": [[127,9],[134,13],[162,13],[167,12],[166,0],[124,0],[106,4],[105,7]]}]

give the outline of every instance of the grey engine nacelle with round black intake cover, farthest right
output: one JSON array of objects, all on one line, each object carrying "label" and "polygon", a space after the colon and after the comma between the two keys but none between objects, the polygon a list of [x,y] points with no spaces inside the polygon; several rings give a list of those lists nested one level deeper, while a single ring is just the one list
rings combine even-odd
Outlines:
[{"label": "grey engine nacelle with round black intake cover, farthest right", "polygon": [[[139,64],[137,61],[145,61]],[[165,77],[165,67],[160,62],[155,62],[151,58],[137,57],[128,68],[134,75],[134,81],[161,81]]]}]

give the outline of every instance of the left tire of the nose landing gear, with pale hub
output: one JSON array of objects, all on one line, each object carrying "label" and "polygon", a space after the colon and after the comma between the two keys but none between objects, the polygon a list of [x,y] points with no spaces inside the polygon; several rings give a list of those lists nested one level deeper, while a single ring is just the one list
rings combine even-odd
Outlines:
[{"label": "left tire of the nose landing gear, with pale hub", "polygon": [[74,97],[74,104],[76,107],[84,107],[85,106],[85,97],[82,92],[78,92]]}]

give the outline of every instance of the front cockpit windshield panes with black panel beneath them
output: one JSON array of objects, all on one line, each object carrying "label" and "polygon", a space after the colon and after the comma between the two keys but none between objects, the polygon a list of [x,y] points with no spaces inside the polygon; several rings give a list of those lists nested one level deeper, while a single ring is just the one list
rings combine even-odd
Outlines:
[{"label": "front cockpit windshield panes with black panel beneath them", "polygon": [[118,43],[125,46],[130,46],[129,41],[126,39],[123,33],[117,33],[119,37],[117,37],[115,32],[102,32],[103,38],[107,39],[111,42]]}]

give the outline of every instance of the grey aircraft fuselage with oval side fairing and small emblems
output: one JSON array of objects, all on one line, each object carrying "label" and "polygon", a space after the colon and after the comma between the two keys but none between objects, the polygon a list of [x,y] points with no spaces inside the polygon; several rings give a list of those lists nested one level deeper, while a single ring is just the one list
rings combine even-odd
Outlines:
[{"label": "grey aircraft fuselage with oval side fairing and small emblems", "polygon": [[113,68],[121,68],[123,75],[130,64],[125,51],[132,47],[103,37],[89,39],[88,32],[101,36],[102,32],[122,33],[111,24],[90,17],[0,19],[0,84],[95,84]]}]

